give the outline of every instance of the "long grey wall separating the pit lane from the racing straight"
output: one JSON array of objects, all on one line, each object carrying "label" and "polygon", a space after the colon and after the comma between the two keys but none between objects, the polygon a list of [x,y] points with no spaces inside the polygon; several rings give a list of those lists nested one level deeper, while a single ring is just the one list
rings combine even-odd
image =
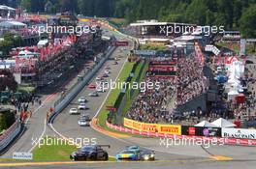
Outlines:
[{"label": "long grey wall separating the pit lane from the racing straight", "polygon": [[109,49],[109,51],[106,54],[106,57],[104,57],[94,68],[93,70],[89,71],[78,83],[75,87],[72,88],[70,93],[68,93],[64,99],[59,101],[55,107],[54,107],[54,113],[50,114],[48,117],[48,123],[52,123],[54,120],[54,117],[60,113],[71,101],[72,99],[75,99],[76,96],[80,93],[82,88],[87,84],[87,82],[93,77],[93,75],[103,66],[103,64],[109,59],[110,55],[114,51],[115,47],[112,47]]}]

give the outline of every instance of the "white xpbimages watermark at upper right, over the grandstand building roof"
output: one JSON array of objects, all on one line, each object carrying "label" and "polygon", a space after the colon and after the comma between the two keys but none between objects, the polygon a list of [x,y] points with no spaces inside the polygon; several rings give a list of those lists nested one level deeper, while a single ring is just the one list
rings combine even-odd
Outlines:
[{"label": "white xpbimages watermark at upper right, over the grandstand building roof", "polygon": [[200,33],[205,36],[212,34],[224,34],[224,26],[194,26],[194,25],[162,25],[160,26],[160,34],[165,36],[172,36],[173,34],[184,34],[184,33]]}]

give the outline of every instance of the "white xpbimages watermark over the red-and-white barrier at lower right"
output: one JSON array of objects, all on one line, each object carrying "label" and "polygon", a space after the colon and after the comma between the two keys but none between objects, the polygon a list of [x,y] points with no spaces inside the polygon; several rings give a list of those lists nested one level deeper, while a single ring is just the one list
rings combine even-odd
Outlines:
[{"label": "white xpbimages watermark over the red-and-white barrier at lower right", "polygon": [[223,146],[225,140],[218,140],[217,138],[160,138],[159,145],[165,147],[166,149],[173,146],[202,146],[204,148],[209,148],[210,146]]}]

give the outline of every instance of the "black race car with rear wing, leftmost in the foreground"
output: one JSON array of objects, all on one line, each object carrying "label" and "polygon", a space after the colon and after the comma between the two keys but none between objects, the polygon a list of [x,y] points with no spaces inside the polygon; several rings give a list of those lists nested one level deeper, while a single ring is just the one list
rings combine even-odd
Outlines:
[{"label": "black race car with rear wing, leftmost in the foreground", "polygon": [[94,145],[83,146],[77,152],[70,155],[72,160],[109,160],[107,151],[103,150],[103,147],[109,147],[110,145]]}]

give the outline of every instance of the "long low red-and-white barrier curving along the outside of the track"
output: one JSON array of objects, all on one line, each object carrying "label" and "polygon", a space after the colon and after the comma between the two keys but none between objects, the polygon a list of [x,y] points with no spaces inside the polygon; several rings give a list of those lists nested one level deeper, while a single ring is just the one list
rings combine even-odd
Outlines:
[{"label": "long low red-and-white barrier curving along the outside of the track", "polygon": [[205,137],[205,136],[190,136],[190,135],[174,135],[174,134],[164,134],[158,132],[149,132],[149,131],[139,131],[136,129],[131,129],[127,127],[118,127],[110,124],[106,121],[107,127],[110,127],[114,130],[121,132],[126,132],[130,134],[139,134],[148,137],[158,137],[158,138],[169,138],[169,139],[193,139],[193,140],[207,140],[209,142],[223,143],[227,145],[239,145],[239,146],[256,146],[256,140],[252,139],[239,139],[239,138],[221,138],[221,137]]}]

